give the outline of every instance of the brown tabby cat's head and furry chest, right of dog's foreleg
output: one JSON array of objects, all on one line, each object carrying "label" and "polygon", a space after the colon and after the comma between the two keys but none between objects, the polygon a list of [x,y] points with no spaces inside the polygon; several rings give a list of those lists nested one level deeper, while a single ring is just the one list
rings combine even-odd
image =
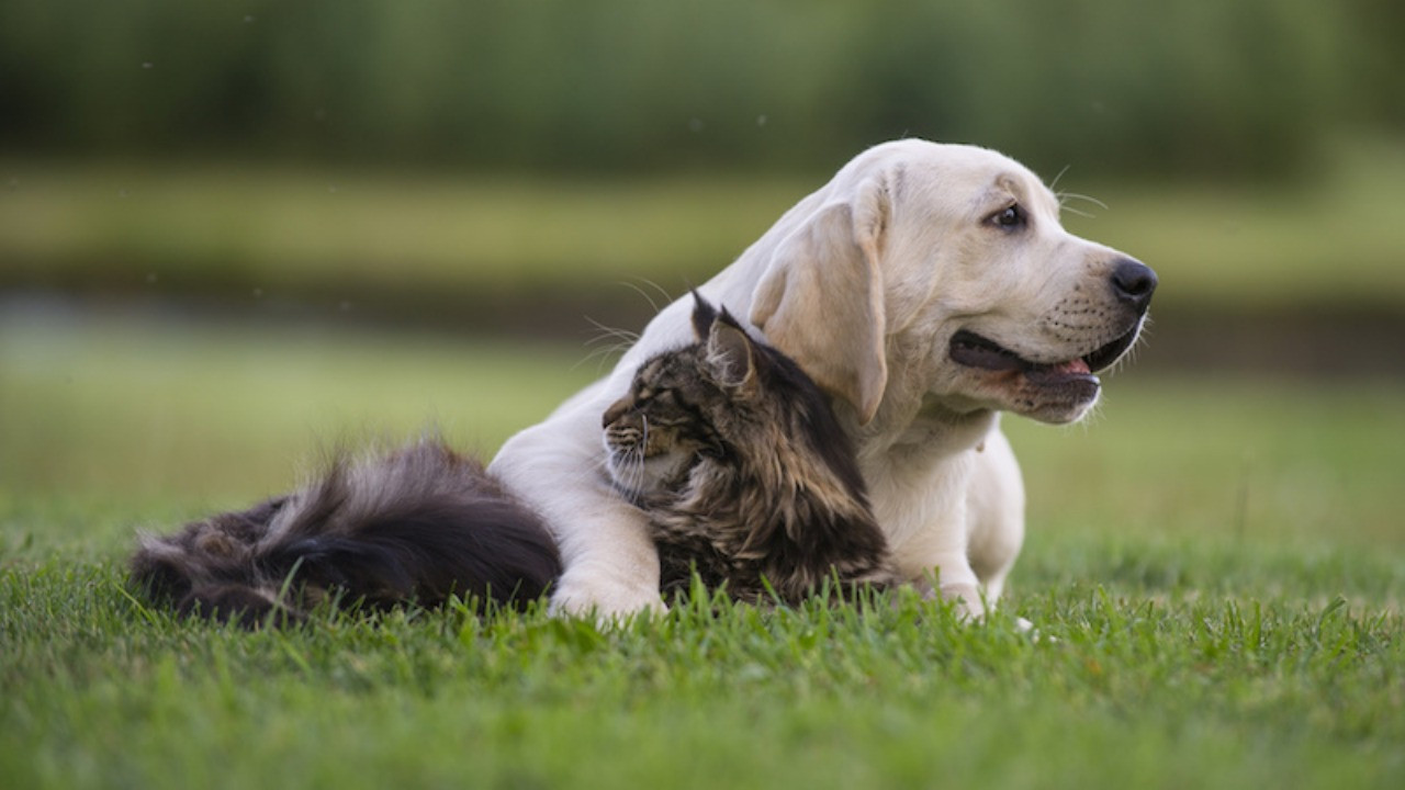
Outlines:
[{"label": "brown tabby cat's head and furry chest, right of dog's foreleg", "polygon": [[854,451],[795,363],[701,298],[697,343],[642,364],[604,415],[615,486],[651,519],[665,592],[695,571],[733,597],[795,603],[894,582]]}]

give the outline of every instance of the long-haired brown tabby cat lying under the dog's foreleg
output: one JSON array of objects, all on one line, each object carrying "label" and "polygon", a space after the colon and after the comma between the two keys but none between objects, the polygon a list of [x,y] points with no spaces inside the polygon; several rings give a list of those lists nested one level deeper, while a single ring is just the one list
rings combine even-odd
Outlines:
[{"label": "long-haired brown tabby cat lying under the dog's foreleg", "polygon": [[[608,474],[651,517],[665,592],[694,569],[749,600],[767,585],[798,602],[826,579],[891,582],[825,395],[701,299],[694,326],[698,342],[641,365],[604,420]],[[542,520],[438,441],[337,462],[288,496],[145,537],[132,559],[133,581],[178,610],[249,624],[301,619],[333,593],[521,604],[559,574]]]}]

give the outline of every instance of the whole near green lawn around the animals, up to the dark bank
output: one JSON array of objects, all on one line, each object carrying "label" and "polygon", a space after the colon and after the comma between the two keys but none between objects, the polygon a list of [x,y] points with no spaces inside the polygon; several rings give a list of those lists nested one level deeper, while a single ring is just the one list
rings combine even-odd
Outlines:
[{"label": "whole near green lawn around the animals, up to the dark bank", "polygon": [[[0,776],[14,787],[1395,787],[1405,388],[1110,382],[1007,420],[1030,538],[939,606],[327,613],[246,634],[122,589],[135,527],[436,422],[492,450],[586,349],[89,316],[0,326]],[[1020,635],[1014,614],[1041,638]]]}]

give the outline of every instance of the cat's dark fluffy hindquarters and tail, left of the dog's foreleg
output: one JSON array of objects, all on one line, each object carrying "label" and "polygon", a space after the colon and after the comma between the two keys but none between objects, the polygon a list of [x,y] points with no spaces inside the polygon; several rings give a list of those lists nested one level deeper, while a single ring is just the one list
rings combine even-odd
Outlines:
[{"label": "cat's dark fluffy hindquarters and tail, left of the dog's foreleg", "polygon": [[152,600],[254,626],[301,620],[329,595],[523,606],[559,576],[561,558],[542,520],[482,464],[426,440],[340,458],[288,496],[145,536],[131,569]]}]

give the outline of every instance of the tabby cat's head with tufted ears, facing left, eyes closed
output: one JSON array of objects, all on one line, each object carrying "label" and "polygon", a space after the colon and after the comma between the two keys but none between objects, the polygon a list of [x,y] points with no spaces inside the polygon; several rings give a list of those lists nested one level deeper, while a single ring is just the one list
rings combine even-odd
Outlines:
[{"label": "tabby cat's head with tufted ears, facing left, eyes closed", "polygon": [[[816,422],[839,434],[828,398],[795,363],[725,308],[694,299],[694,343],[639,365],[604,413],[607,471],[631,498],[674,489],[698,462],[777,460]],[[847,447],[842,436],[835,441]]]}]

